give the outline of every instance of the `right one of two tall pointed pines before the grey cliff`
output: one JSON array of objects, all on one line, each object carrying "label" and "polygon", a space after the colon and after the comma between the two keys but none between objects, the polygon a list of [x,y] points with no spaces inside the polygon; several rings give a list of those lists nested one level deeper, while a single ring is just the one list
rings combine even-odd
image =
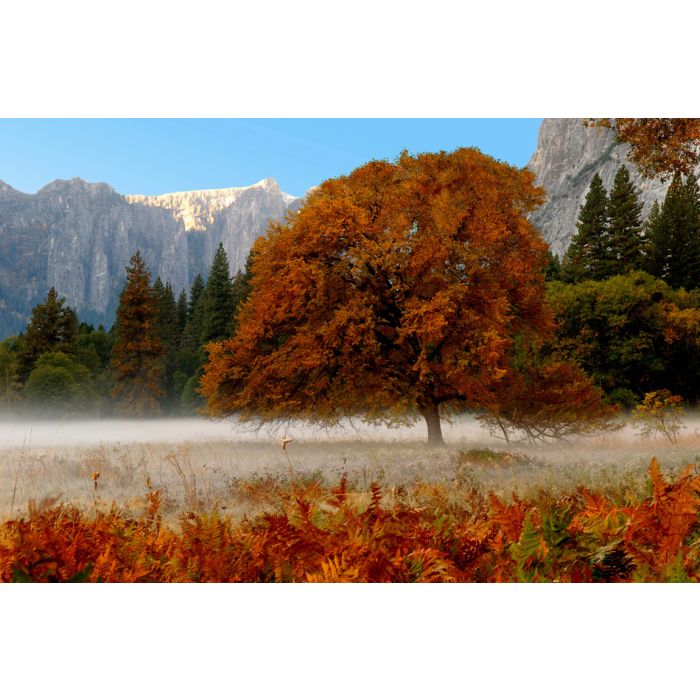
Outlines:
[{"label": "right one of two tall pointed pines before the grey cliff", "polygon": [[608,200],[608,241],[611,250],[608,276],[641,270],[644,261],[642,205],[623,165],[615,174]]}]

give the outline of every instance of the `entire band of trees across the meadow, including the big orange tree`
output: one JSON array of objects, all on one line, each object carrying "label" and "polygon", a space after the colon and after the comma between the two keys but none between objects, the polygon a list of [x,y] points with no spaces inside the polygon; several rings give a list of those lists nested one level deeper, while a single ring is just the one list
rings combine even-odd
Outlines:
[{"label": "entire band of trees across the meadow, including the big orange tree", "polygon": [[112,329],[51,290],[0,344],[7,406],[333,422],[477,411],[505,437],[605,429],[668,389],[700,398],[700,202],[677,174],[645,222],[629,172],[595,176],[564,260],[525,218],[527,171],[472,149],[328,180],[231,278],[220,245],[175,299],[137,253]]}]

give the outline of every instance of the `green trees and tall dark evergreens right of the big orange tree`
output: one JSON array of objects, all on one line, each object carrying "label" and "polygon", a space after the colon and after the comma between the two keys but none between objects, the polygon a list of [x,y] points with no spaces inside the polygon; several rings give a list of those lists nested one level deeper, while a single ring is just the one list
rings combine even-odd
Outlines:
[{"label": "green trees and tall dark evergreens right of the big orange tree", "polygon": [[642,220],[625,166],[610,193],[598,174],[564,258],[550,254],[548,299],[557,330],[548,345],[576,361],[610,402],[649,391],[700,399],[700,191],[676,173]]}]

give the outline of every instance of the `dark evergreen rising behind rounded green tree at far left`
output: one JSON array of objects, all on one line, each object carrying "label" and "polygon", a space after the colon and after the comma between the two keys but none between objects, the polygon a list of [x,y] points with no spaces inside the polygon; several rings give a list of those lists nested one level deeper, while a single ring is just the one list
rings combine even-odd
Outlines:
[{"label": "dark evergreen rising behind rounded green tree at far left", "polygon": [[72,355],[75,351],[78,317],[65,302],[65,297],[59,298],[58,292],[51,287],[46,301],[32,310],[32,317],[22,336],[17,357],[22,383],[27,380],[40,355],[45,352]]}]

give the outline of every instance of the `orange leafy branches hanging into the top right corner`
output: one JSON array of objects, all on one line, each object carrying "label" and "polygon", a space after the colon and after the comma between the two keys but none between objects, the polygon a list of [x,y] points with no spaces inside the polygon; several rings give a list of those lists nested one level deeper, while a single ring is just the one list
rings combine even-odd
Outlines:
[{"label": "orange leafy branches hanging into the top right corner", "polygon": [[630,156],[646,177],[693,172],[700,155],[700,119],[598,119],[631,146]]}]

